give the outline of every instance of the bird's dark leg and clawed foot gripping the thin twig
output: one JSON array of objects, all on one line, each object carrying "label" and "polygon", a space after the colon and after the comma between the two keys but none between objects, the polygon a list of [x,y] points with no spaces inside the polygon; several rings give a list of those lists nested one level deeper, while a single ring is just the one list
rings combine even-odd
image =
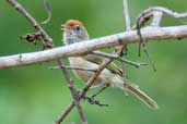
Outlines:
[{"label": "bird's dark leg and clawed foot gripping the thin twig", "polygon": [[87,100],[87,102],[90,102],[91,104],[97,104],[100,107],[108,107],[108,104],[104,104],[101,103],[98,100],[95,99],[95,97],[97,95],[100,95],[102,91],[104,91],[107,87],[109,86],[109,84],[105,84],[104,87],[102,87],[98,91],[96,91],[94,95],[92,95],[91,97],[86,97],[84,96],[83,99]]}]

